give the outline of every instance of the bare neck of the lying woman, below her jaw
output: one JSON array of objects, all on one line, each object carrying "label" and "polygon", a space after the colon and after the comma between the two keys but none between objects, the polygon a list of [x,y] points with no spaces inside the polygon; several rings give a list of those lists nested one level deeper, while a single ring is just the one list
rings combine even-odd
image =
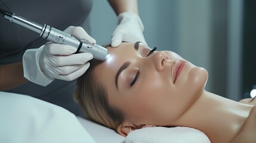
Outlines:
[{"label": "bare neck of the lying woman, below her jaw", "polygon": [[251,108],[252,105],[203,91],[201,97],[176,120],[175,126],[199,129],[213,143],[230,142],[239,132]]}]

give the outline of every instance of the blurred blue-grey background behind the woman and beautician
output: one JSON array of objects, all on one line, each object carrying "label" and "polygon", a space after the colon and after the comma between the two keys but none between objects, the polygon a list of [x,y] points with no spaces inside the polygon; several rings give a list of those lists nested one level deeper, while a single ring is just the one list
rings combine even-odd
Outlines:
[{"label": "blurred blue-grey background behind the woman and beautician", "polygon": [[[138,0],[150,47],[177,52],[208,70],[206,90],[232,100],[256,92],[256,1]],[[110,43],[117,24],[108,1],[93,1],[90,35]]]}]

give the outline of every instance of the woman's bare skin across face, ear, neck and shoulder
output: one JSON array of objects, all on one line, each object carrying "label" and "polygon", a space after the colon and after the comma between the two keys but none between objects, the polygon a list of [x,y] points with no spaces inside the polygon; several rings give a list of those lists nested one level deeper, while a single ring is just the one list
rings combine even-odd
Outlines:
[{"label": "woman's bare skin across face, ear, neck and shoulder", "polygon": [[[94,72],[107,89],[110,104],[125,114],[125,122],[116,129],[119,134],[148,126],[187,126],[201,130],[211,142],[256,141],[255,101],[245,104],[205,91],[208,72],[202,67],[171,51],[147,57],[150,49],[143,43],[138,50],[134,43],[121,43],[108,51],[111,57]],[[175,79],[172,67],[178,60],[186,66]],[[117,88],[115,76],[126,61],[130,64],[120,73]],[[138,71],[140,76],[130,86]]]}]

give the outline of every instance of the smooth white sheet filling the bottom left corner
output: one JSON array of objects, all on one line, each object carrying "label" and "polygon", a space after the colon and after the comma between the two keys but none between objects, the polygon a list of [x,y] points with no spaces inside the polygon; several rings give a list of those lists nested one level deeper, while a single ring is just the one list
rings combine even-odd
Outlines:
[{"label": "smooth white sheet filling the bottom left corner", "polygon": [[1,91],[0,142],[95,143],[68,110],[27,95]]}]

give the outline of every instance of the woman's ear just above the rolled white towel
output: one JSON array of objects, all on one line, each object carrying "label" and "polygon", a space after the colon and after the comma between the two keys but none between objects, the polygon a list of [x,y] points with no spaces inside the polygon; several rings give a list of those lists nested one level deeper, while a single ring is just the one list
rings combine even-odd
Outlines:
[{"label": "woman's ear just above the rolled white towel", "polygon": [[136,125],[129,121],[125,121],[121,125],[119,125],[118,128],[116,128],[116,132],[126,137],[129,132],[132,132],[135,129],[141,129],[141,128],[147,128],[147,127],[153,127],[153,126],[154,125],[148,125],[148,124]]}]

